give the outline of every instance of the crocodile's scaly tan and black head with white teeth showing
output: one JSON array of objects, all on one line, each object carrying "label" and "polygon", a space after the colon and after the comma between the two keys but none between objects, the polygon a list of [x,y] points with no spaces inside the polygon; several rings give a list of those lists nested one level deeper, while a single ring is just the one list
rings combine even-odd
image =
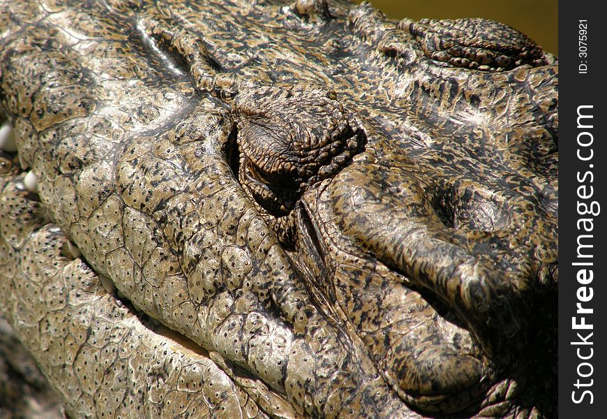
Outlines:
[{"label": "crocodile's scaly tan and black head with white teeth showing", "polygon": [[552,54],[342,0],[1,8],[0,315],[66,415],[556,416]]}]

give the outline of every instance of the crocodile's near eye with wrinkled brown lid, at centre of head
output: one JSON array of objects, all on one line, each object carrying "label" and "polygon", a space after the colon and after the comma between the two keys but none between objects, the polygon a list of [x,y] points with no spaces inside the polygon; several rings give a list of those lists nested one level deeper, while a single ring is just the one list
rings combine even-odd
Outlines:
[{"label": "crocodile's near eye with wrinkled brown lid, at centre of head", "polygon": [[262,87],[237,96],[234,105],[239,182],[289,242],[297,200],[361,151],[364,132],[329,94],[304,87]]}]

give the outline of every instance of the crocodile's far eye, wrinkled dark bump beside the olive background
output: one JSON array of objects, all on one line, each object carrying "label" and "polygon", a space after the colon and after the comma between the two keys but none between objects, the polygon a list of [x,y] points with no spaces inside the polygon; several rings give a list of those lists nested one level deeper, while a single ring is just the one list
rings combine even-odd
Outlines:
[{"label": "crocodile's far eye, wrinkled dark bump beside the olive background", "polygon": [[402,20],[398,26],[419,43],[426,57],[480,71],[547,64],[534,41],[506,24],[486,19]]}]

